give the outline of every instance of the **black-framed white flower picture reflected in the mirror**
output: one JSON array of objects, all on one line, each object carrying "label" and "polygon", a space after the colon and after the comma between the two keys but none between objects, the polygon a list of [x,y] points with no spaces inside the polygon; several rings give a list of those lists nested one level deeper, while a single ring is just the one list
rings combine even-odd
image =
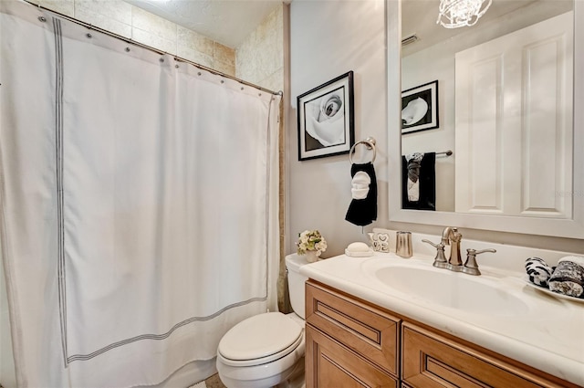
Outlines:
[{"label": "black-framed white flower picture reflected in the mirror", "polygon": [[401,92],[401,134],[439,126],[438,80]]}]

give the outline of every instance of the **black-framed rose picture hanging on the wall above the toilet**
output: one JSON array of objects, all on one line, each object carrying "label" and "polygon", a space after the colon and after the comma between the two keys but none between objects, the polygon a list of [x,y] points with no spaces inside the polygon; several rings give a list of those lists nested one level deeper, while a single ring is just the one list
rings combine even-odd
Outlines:
[{"label": "black-framed rose picture hanging on the wall above the toilet", "polygon": [[349,153],[355,143],[353,72],[297,97],[298,160]]}]

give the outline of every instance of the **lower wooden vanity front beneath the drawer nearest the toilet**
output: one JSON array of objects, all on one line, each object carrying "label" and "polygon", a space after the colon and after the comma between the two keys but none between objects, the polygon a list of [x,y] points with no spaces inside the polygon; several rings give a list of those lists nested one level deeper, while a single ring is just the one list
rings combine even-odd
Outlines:
[{"label": "lower wooden vanity front beneath the drawer nearest the toilet", "polygon": [[389,374],[310,325],[306,336],[306,388],[398,387]]}]

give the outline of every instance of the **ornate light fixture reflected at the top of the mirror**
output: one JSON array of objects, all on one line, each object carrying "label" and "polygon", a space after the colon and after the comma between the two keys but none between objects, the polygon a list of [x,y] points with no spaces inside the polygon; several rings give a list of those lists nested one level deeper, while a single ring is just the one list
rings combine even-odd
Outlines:
[{"label": "ornate light fixture reflected at the top of the mirror", "polygon": [[440,0],[436,24],[446,28],[474,26],[493,0]]}]

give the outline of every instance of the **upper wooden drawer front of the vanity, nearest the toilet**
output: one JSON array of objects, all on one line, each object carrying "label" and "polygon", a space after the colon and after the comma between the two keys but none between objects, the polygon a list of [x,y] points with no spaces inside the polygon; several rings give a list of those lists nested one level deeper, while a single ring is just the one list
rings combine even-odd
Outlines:
[{"label": "upper wooden drawer front of the vanity, nearest the toilet", "polygon": [[397,375],[399,319],[312,280],[306,291],[308,324]]}]

